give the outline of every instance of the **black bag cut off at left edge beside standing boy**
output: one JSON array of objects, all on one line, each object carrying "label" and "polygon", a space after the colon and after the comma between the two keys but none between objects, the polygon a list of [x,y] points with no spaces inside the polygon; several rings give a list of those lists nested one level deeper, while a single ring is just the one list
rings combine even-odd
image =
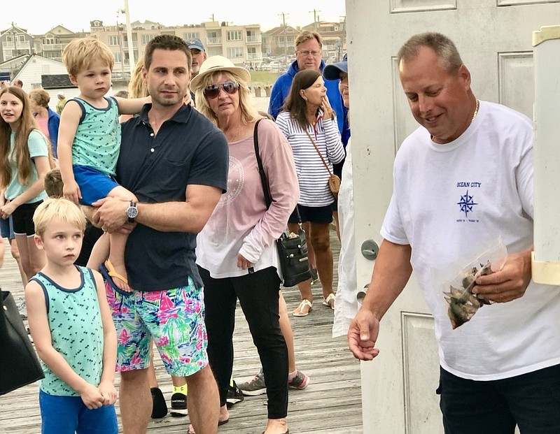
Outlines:
[{"label": "black bag cut off at left edge beside standing boy", "polygon": [[10,291],[1,291],[0,395],[45,377]]}]

